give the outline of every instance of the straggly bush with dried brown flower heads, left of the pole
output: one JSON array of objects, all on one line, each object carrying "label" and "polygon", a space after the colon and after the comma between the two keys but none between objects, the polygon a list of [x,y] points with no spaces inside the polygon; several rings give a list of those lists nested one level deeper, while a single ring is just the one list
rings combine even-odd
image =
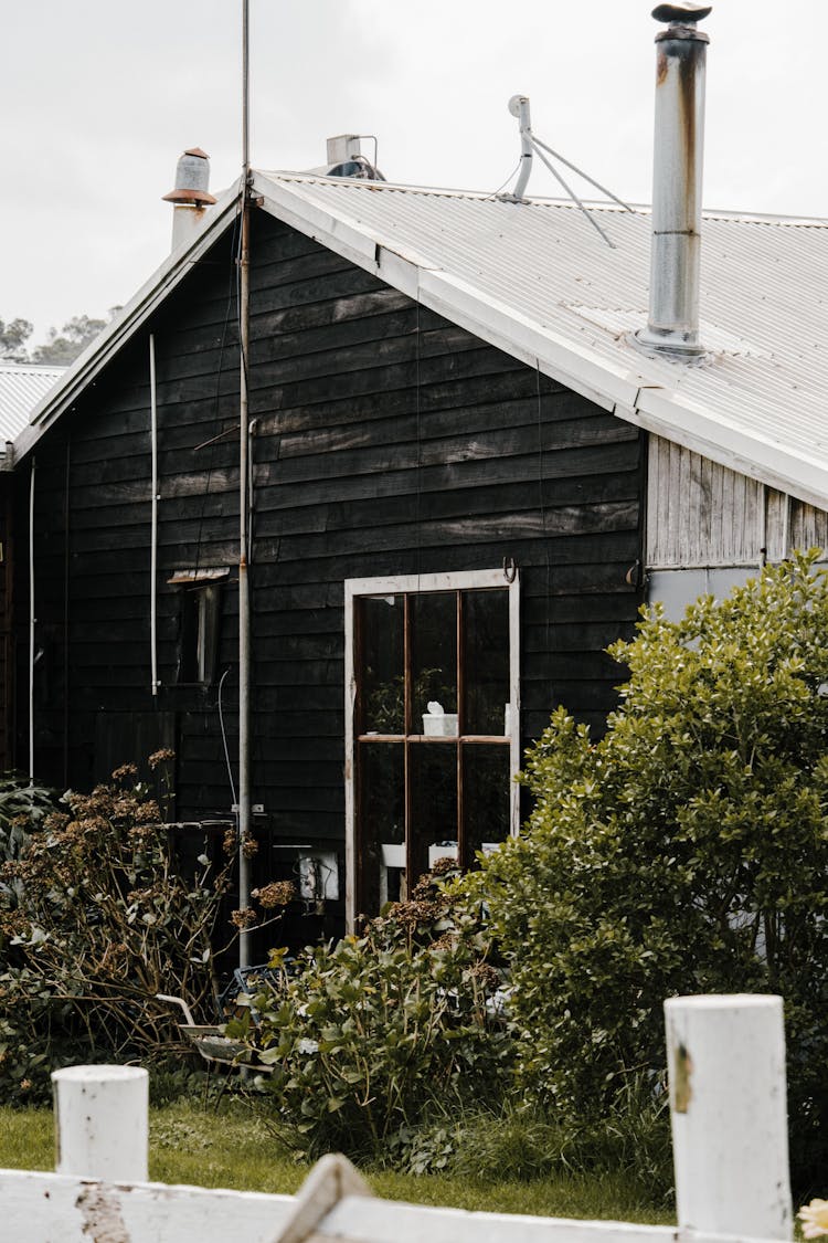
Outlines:
[{"label": "straggly bush with dried brown flower heads, left of the pole", "polygon": [[[170,758],[159,752],[155,764]],[[0,1085],[31,1098],[74,1058],[158,1058],[180,1045],[155,993],[214,1017],[211,937],[231,859],[186,875],[135,767],[5,830],[0,868]],[[32,829],[32,832],[27,832]]]}]

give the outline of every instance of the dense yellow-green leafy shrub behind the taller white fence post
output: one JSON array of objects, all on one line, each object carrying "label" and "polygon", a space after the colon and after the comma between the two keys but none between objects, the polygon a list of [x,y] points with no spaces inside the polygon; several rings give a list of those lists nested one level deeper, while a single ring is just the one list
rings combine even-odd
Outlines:
[{"label": "dense yellow-green leafy shrub behind the taller white fence post", "polygon": [[529,1098],[601,1119],[664,1064],[662,1002],[780,992],[793,1162],[828,1163],[828,580],[797,557],[658,607],[611,653],[592,742],[561,709],[528,757],[528,832],[467,884],[506,955]]}]

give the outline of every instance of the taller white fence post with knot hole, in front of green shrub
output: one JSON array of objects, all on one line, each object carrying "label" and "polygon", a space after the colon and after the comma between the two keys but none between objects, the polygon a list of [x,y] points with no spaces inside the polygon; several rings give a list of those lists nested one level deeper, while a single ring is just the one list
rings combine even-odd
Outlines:
[{"label": "taller white fence post with knot hole, in front of green shrub", "polygon": [[782,998],[664,1002],[679,1228],[790,1239]]}]

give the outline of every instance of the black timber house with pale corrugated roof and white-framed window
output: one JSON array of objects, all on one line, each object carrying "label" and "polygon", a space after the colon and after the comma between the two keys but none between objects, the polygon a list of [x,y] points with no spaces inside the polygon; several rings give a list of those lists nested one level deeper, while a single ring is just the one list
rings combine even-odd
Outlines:
[{"label": "black timber house with pale corrugated roof and white-framed window", "polygon": [[[513,777],[550,711],[600,731],[616,702],[605,649],[648,571],[678,602],[826,542],[828,354],[792,358],[785,296],[762,302],[745,264],[797,288],[824,346],[828,229],[706,219],[690,367],[627,339],[646,213],[601,209],[610,250],[561,203],[292,174],[253,194],[254,869],[297,873],[333,930],[516,829]],[[237,255],[232,190],[4,476],[11,758],[31,745],[38,778],[83,787],[169,746],[176,822],[236,802]]]}]

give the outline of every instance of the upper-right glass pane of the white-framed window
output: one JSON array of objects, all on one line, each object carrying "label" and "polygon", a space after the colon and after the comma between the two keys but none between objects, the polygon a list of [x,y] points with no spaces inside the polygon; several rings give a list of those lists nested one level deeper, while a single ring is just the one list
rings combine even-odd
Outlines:
[{"label": "upper-right glass pane of the white-framed window", "polygon": [[509,593],[463,593],[463,733],[505,735]]}]

